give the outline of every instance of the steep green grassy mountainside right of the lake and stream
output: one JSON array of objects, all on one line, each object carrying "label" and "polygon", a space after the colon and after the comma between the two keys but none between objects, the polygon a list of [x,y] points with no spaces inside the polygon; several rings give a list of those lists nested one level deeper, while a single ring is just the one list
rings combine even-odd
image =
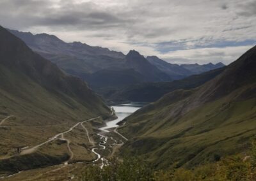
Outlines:
[{"label": "steep green grassy mountainside right of the lake and stream", "polygon": [[157,168],[188,166],[243,152],[256,133],[256,47],[189,91],[166,94],[125,119],[123,150]]}]

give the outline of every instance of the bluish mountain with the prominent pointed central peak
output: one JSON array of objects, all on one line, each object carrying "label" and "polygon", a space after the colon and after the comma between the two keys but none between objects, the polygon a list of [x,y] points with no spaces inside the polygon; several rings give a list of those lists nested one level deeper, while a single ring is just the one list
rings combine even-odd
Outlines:
[{"label": "bluish mountain with the prominent pointed central peak", "polygon": [[112,94],[111,92],[119,91],[122,87],[133,86],[136,83],[172,80],[170,76],[161,72],[134,50],[125,56],[125,63],[120,67],[77,76],[83,77],[104,98],[107,98],[108,94]]}]

